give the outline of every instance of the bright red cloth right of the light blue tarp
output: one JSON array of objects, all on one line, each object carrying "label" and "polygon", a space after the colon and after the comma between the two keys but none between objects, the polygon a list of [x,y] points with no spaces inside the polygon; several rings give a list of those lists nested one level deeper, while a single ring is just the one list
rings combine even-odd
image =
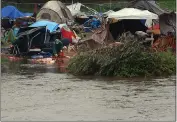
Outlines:
[{"label": "bright red cloth right of the light blue tarp", "polygon": [[61,29],[61,35],[63,38],[69,39],[70,43],[72,43],[72,36],[76,38],[76,36],[74,35],[72,31],[67,31],[64,28]]}]

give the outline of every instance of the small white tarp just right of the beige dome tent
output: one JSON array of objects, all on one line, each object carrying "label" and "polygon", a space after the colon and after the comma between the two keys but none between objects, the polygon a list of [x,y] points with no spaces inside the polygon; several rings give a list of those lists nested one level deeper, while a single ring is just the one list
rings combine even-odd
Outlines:
[{"label": "small white tarp just right of the beige dome tent", "polygon": [[74,3],[72,5],[68,5],[67,8],[70,10],[72,16],[75,16],[75,15],[81,13],[81,11],[80,11],[81,6],[82,6],[81,3]]}]

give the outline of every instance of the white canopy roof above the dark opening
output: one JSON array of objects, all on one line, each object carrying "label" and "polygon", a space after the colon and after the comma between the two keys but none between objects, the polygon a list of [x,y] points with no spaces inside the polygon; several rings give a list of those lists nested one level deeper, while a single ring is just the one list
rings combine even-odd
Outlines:
[{"label": "white canopy roof above the dark opening", "polygon": [[117,12],[110,13],[108,18],[116,19],[158,19],[158,15],[148,10],[139,10],[135,8],[124,8]]}]

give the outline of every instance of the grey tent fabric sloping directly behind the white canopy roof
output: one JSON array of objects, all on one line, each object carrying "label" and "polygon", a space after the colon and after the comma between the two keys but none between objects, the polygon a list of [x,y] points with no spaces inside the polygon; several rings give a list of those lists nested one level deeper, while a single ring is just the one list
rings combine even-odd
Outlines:
[{"label": "grey tent fabric sloping directly behind the white canopy roof", "polygon": [[165,13],[155,2],[155,0],[135,0],[128,5],[129,8],[148,10],[157,15]]}]

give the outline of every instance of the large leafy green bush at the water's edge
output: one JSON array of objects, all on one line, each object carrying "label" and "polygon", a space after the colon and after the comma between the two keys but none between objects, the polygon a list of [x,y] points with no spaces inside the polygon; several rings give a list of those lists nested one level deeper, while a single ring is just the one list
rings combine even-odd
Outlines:
[{"label": "large leafy green bush at the water's edge", "polygon": [[108,46],[80,53],[72,58],[68,71],[74,75],[148,77],[172,75],[176,58],[171,52],[145,50],[134,37],[125,37],[122,46]]}]

